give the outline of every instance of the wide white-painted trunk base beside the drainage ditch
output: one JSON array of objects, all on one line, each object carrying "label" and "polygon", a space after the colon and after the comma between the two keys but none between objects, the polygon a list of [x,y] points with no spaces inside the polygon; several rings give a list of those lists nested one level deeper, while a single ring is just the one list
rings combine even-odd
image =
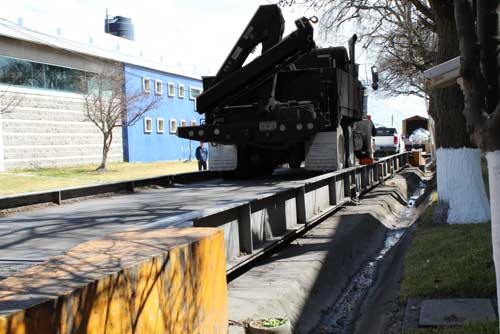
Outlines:
[{"label": "wide white-painted trunk base beside the drainage ditch", "polygon": [[481,173],[481,151],[473,148],[438,148],[436,151],[439,200],[448,203],[449,224],[490,220],[490,205]]}]

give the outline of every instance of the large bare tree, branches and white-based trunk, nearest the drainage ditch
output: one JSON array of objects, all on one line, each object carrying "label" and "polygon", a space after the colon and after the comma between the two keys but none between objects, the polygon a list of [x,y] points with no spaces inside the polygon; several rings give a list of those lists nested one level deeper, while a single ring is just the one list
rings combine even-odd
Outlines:
[{"label": "large bare tree, branches and white-based trunk, nearest the drainage ditch", "polygon": [[[363,46],[376,51],[381,90],[393,96],[429,98],[438,148],[438,193],[449,207],[448,222],[487,221],[489,203],[484,184],[478,181],[481,156],[461,113],[463,95],[457,85],[429,91],[423,80],[424,70],[459,54],[453,0],[281,0],[280,4],[320,12],[323,33],[357,23]],[[475,177],[464,178],[464,170],[473,171]],[[459,189],[468,191],[463,194]],[[478,209],[467,210],[464,200]]]}]

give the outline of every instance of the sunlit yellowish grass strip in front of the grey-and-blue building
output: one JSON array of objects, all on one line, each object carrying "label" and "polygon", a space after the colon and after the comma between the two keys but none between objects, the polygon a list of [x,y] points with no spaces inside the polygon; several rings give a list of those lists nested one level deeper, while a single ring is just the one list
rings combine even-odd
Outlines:
[{"label": "sunlit yellowish grass strip in front of the grey-and-blue building", "polygon": [[153,163],[110,163],[108,171],[97,172],[97,165],[14,170],[0,173],[0,195],[13,195],[66,187],[99,184],[197,170],[196,161]]}]

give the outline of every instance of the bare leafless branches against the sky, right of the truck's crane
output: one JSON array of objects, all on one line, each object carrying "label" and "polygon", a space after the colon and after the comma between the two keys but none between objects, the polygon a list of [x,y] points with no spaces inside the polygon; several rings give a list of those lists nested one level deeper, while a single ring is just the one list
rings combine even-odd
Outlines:
[{"label": "bare leafless branches against the sky, right of the truck's crane", "polygon": [[355,22],[364,48],[377,52],[381,88],[389,95],[425,97],[423,71],[434,62],[435,29],[427,1],[281,0],[281,5],[308,6],[321,13],[323,34]]}]

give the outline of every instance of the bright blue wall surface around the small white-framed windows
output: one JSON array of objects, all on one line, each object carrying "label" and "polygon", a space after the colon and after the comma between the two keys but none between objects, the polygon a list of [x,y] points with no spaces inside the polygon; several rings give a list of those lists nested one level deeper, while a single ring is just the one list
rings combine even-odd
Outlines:
[{"label": "bright blue wall surface around the small white-framed windows", "polygon": [[[181,139],[175,133],[170,133],[169,121],[175,119],[177,126],[180,126],[181,120],[185,120],[187,125],[190,125],[192,120],[200,124],[203,116],[195,111],[195,101],[189,98],[189,87],[201,88],[201,81],[133,65],[125,65],[125,78],[129,94],[137,94],[138,91],[142,90],[143,78],[151,80],[151,92],[149,93],[151,97],[155,95],[155,80],[161,80],[163,86],[163,93],[158,96],[160,99],[159,107],[145,114],[134,125],[124,129],[125,160],[130,162],[185,160],[189,158],[190,146],[191,157],[195,159],[194,154],[198,142],[190,143],[189,140]],[[169,82],[174,84],[174,96],[168,95]],[[179,97],[179,85],[184,85],[184,98]],[[134,110],[129,110],[129,113],[133,112]],[[146,133],[144,129],[146,117],[152,119],[151,133]],[[163,133],[158,133],[157,120],[159,118],[164,120]]]}]

